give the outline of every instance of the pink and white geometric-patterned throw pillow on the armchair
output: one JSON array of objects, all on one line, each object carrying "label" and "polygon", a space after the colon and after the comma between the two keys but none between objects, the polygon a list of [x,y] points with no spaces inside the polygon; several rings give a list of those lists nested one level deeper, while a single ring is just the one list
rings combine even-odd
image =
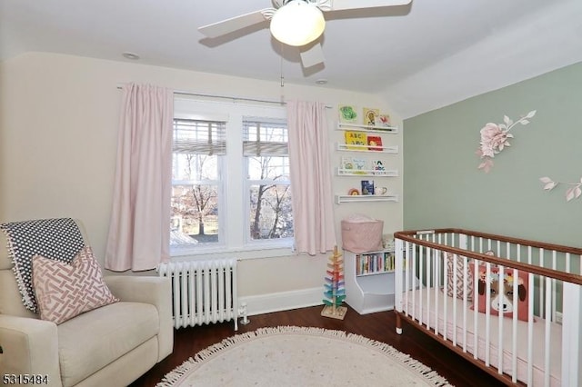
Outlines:
[{"label": "pink and white geometric-patterned throw pillow on the armchair", "polygon": [[85,246],[71,264],[35,255],[33,285],[40,318],[56,324],[119,301],[103,281],[90,246]]}]

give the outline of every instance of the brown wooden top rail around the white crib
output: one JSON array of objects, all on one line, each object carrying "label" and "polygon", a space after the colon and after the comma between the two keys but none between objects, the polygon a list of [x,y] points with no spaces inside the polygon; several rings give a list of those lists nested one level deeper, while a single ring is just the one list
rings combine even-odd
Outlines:
[{"label": "brown wooden top rail around the white crib", "polygon": [[454,253],[457,255],[464,255],[467,258],[477,259],[482,262],[494,263],[497,265],[503,265],[505,267],[511,267],[517,270],[522,270],[529,273],[543,275],[545,277],[557,279],[567,283],[576,283],[582,285],[582,275],[576,273],[566,273],[559,270],[550,269],[541,266],[532,266],[527,263],[519,263],[517,261],[509,261],[505,258],[501,258],[495,255],[487,255],[484,253],[471,252],[465,249],[457,248],[454,246],[447,246],[442,243],[433,243],[426,241],[424,239],[417,238],[418,235],[426,234],[439,234],[439,233],[456,233],[465,234],[467,236],[475,236],[484,239],[491,239],[503,243],[514,243],[522,246],[530,246],[539,249],[544,249],[547,251],[556,251],[559,253],[571,253],[578,256],[582,256],[582,248],[563,246],[560,244],[553,243],[541,243],[537,241],[529,241],[527,239],[507,237],[504,235],[497,235],[493,233],[479,233],[465,229],[458,228],[443,228],[435,230],[412,230],[412,231],[400,231],[394,233],[395,239],[400,239],[409,243],[415,243],[418,245],[433,248],[435,250],[445,251],[448,253]]}]

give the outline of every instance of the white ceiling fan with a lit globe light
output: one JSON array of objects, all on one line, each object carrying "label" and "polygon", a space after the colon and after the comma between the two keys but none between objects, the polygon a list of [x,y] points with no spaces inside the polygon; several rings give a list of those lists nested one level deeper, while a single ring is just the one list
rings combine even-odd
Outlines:
[{"label": "white ceiling fan with a lit globe light", "polygon": [[271,35],[286,45],[300,47],[301,63],[311,67],[324,62],[321,45],[315,42],[326,28],[325,13],[352,9],[407,5],[412,0],[271,0],[273,7],[239,15],[198,28],[206,37],[226,35],[270,20]]}]

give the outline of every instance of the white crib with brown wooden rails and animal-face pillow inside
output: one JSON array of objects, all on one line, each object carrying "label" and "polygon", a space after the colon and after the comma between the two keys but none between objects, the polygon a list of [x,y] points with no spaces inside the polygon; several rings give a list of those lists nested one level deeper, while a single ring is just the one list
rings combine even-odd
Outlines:
[{"label": "white crib with brown wooden rails and animal-face pillow inside", "polygon": [[395,240],[398,333],[404,320],[507,384],[582,385],[582,249],[460,229]]}]

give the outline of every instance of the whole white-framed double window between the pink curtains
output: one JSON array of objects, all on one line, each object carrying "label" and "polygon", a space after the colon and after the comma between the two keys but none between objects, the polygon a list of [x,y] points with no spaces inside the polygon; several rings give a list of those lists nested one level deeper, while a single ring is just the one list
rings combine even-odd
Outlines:
[{"label": "whole white-framed double window between the pink curtains", "polygon": [[171,253],[289,248],[287,140],[280,106],[176,98]]}]

